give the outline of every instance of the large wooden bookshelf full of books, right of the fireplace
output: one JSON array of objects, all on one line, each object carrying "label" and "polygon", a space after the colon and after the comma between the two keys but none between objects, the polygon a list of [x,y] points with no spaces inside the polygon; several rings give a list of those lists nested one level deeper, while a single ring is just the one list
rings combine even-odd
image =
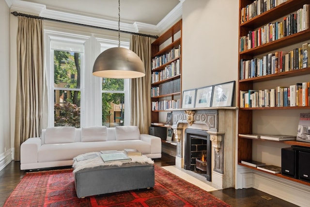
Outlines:
[{"label": "large wooden bookshelf full of books, right of the fireplace", "polygon": [[[310,109],[309,95],[303,100],[297,87],[297,83],[304,82],[305,92],[309,91],[310,85],[310,60],[309,57],[303,59],[303,54],[310,52],[310,7],[305,4],[310,4],[309,0],[239,0],[238,134],[265,134],[263,128],[271,125],[269,120],[266,119],[259,129],[253,125],[254,120],[257,122],[262,114],[266,114],[265,110],[283,117],[292,110],[298,116],[299,111]],[[301,86],[299,93],[302,91]],[[293,100],[293,96],[297,99]],[[239,165],[258,170],[241,163],[252,159],[252,151],[262,153],[258,142],[278,144],[279,150],[283,144],[310,147],[306,142],[238,136]],[[281,174],[272,175],[310,185]]]}]

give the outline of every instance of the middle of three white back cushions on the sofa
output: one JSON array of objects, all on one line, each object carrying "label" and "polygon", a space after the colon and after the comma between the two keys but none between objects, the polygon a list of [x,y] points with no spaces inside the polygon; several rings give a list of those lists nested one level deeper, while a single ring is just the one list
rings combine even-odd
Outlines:
[{"label": "middle of three white back cushions on the sofa", "polygon": [[106,126],[82,127],[82,142],[107,141],[108,131]]}]

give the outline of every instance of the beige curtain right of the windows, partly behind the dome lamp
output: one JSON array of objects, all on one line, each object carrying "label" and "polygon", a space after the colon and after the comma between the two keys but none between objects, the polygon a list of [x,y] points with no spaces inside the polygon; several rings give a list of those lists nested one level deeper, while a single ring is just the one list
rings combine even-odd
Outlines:
[{"label": "beige curtain right of the windows, partly behind the dome lamp", "polygon": [[149,133],[151,125],[151,38],[132,35],[131,50],[142,60],[145,77],[131,80],[131,121],[140,133]]}]

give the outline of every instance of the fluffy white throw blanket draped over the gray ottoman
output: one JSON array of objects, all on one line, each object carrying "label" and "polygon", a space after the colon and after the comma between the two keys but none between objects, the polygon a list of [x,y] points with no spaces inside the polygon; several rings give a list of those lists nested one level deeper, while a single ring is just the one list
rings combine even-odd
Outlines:
[{"label": "fluffy white throw blanket draped over the gray ottoman", "polygon": [[[73,173],[78,172],[79,170],[85,168],[93,168],[97,166],[122,166],[124,163],[140,163],[140,164],[154,164],[154,161],[151,158],[146,157],[145,155],[142,156],[128,156],[131,158],[131,161],[115,161],[105,163],[101,156],[100,152],[89,152],[82,155],[78,155],[77,157],[73,158],[74,163],[72,167],[74,168]],[[79,161],[78,161],[79,160]]]}]

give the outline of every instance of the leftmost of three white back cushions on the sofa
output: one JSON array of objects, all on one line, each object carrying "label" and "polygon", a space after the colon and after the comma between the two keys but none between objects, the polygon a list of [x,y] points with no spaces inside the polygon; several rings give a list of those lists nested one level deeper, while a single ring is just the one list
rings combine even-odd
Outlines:
[{"label": "leftmost of three white back cushions on the sofa", "polygon": [[45,143],[73,143],[75,127],[47,127]]}]

